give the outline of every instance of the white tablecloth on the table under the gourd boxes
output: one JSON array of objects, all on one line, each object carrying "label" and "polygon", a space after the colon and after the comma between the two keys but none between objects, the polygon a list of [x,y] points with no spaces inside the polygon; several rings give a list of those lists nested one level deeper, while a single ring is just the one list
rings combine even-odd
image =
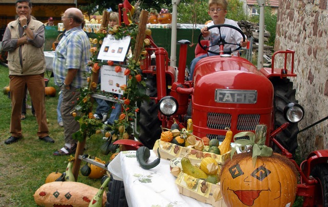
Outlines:
[{"label": "white tablecloth on the table under the gourd boxes", "polygon": [[[151,151],[149,162],[156,158]],[[114,179],[124,181],[130,207],[212,206],[179,194],[176,178],[170,173],[169,160],[161,159],[155,168],[144,170],[137,162],[135,151],[122,151],[109,163],[108,170]]]}]

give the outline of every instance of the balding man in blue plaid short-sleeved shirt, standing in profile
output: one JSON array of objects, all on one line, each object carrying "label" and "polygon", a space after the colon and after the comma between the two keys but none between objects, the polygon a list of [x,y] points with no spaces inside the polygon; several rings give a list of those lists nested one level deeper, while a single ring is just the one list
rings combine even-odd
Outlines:
[{"label": "balding man in blue plaid short-sleeved shirt, standing in profile", "polygon": [[87,74],[90,72],[90,42],[83,31],[84,16],[77,8],[69,8],[61,17],[66,30],[55,50],[53,72],[55,84],[60,87],[63,100],[60,106],[64,125],[64,147],[53,155],[75,153],[77,143],[72,135],[79,130],[79,122],[71,115],[80,96],[79,88],[88,86]]}]

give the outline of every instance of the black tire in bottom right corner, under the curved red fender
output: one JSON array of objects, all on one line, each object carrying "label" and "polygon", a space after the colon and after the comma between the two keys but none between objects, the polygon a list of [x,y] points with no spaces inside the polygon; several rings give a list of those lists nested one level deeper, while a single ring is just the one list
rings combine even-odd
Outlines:
[{"label": "black tire in bottom right corner, under the curved red fender", "polygon": [[319,181],[315,193],[317,202],[315,204],[328,207],[328,164],[315,165],[311,175]]}]

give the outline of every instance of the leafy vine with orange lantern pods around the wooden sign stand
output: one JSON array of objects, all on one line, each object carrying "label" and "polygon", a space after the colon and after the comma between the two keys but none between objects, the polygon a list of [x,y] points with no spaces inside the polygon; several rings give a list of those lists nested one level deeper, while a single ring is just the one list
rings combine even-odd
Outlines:
[{"label": "leafy vine with orange lantern pods around the wooden sign stand", "polygon": [[[78,141],[83,141],[86,137],[91,137],[97,132],[97,130],[103,127],[103,123],[93,117],[92,107],[93,98],[92,93],[104,95],[108,98],[114,98],[117,102],[121,103],[121,113],[118,120],[114,121],[114,124],[110,126],[110,133],[106,133],[106,136],[112,136],[113,140],[116,139],[128,139],[134,137],[134,130],[131,123],[135,120],[139,113],[139,106],[142,100],[149,99],[146,95],[146,81],[142,76],[142,70],[140,68],[140,60],[145,59],[148,55],[146,50],[150,47],[150,40],[144,39],[144,44],[139,57],[135,57],[134,54],[127,54],[126,65],[122,63],[114,63],[111,60],[99,60],[97,59],[100,47],[103,44],[104,38],[107,35],[112,34],[115,39],[122,39],[125,36],[131,36],[131,51],[134,51],[136,44],[136,37],[138,34],[138,25],[122,23],[121,26],[114,26],[112,28],[101,28],[96,33],[96,38],[90,38],[92,57],[89,61],[89,66],[92,67],[91,72],[88,74],[88,88],[80,89],[80,97],[78,98],[77,106],[72,115],[75,116],[75,120],[79,121],[80,129],[73,134],[73,138]],[[147,37],[147,36],[146,36]],[[119,92],[123,91],[123,95],[119,98],[115,92],[106,92],[100,90],[100,85],[92,81],[93,75],[98,75],[101,66],[115,66],[115,71],[120,72],[123,68],[126,68],[124,74],[127,76],[127,84],[119,86]],[[112,109],[115,108],[115,102],[113,102]]]}]

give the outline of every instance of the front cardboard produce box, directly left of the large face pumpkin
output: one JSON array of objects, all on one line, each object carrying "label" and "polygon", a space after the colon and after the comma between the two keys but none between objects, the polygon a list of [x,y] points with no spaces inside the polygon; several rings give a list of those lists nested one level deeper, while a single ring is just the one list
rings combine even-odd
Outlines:
[{"label": "front cardboard produce box, directly left of the large face pumpkin", "polygon": [[178,175],[175,183],[182,195],[195,198],[203,203],[209,203],[215,207],[227,206],[223,200],[219,183],[212,184],[183,172]]}]

